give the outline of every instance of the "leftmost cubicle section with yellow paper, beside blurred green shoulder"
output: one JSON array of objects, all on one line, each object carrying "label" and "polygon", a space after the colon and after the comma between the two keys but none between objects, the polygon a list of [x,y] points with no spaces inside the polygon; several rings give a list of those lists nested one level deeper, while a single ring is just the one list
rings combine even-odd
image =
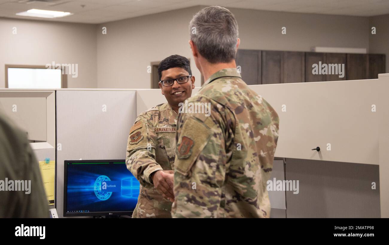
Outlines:
[{"label": "leftmost cubicle section with yellow paper, beside blurred green shoulder", "polygon": [[0,110],[26,132],[39,161],[48,204],[55,203],[55,91],[0,90]]}]

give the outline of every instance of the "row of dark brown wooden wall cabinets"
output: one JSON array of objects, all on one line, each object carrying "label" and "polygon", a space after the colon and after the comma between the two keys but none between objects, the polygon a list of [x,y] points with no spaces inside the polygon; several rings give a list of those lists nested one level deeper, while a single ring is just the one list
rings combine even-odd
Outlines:
[{"label": "row of dark brown wooden wall cabinets", "polygon": [[248,85],[373,79],[385,73],[384,54],[238,50],[236,63]]}]

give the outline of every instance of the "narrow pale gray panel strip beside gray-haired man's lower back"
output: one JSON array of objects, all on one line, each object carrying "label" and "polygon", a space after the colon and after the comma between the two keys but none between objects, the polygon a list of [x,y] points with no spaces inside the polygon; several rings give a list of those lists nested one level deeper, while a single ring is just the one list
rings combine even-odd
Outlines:
[{"label": "narrow pale gray panel strip beside gray-haired man's lower back", "polygon": [[[284,173],[284,160],[274,160],[273,161],[273,170],[269,181],[266,182],[268,187],[270,205],[273,209],[286,209],[285,204],[285,190],[277,190],[277,188],[273,188],[274,185],[277,184],[277,181],[284,181],[285,173]],[[270,212],[271,215],[271,212]]]}]

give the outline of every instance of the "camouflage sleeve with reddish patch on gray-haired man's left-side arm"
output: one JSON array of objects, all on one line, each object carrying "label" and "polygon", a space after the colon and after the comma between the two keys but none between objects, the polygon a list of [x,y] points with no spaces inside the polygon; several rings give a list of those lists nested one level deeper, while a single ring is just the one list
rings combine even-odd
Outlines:
[{"label": "camouflage sleeve with reddish patch on gray-haired man's left-side arm", "polygon": [[177,122],[172,217],[219,217],[225,108],[207,98],[198,101],[210,103],[210,114],[182,113]]}]

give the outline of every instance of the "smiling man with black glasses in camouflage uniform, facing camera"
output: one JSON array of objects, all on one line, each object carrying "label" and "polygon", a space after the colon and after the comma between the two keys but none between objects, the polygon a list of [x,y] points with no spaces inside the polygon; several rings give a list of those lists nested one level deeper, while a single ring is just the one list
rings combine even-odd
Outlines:
[{"label": "smiling man with black glasses in camouflage uniform, facing camera", "polygon": [[195,88],[189,60],[171,55],[158,67],[159,88],[168,101],[138,115],[127,143],[128,170],[140,182],[132,217],[172,217],[175,131],[179,103]]}]

